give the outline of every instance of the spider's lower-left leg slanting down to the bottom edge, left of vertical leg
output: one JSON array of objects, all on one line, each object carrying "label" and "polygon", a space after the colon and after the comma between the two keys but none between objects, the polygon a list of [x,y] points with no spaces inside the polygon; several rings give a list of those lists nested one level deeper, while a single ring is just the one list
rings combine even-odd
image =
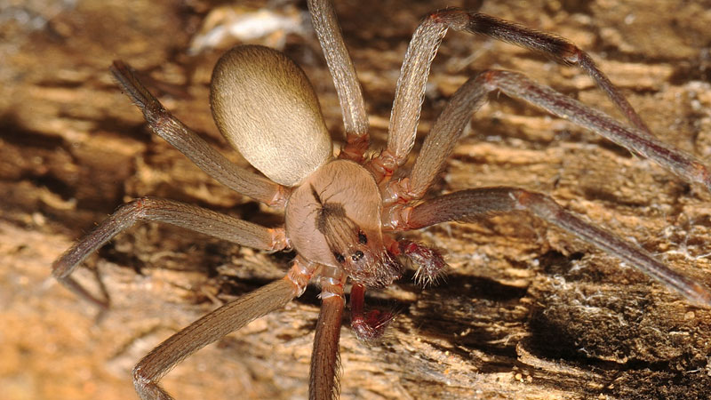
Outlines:
[{"label": "spider's lower-left leg slanting down to the bottom edge, left of vertical leg", "polygon": [[313,264],[296,259],[289,274],[271,284],[262,286],[217,308],[187,328],[175,333],[133,368],[133,385],[143,400],[172,399],[158,380],[172,367],[198,349],[220,340],[252,320],[284,307],[306,289],[306,284],[316,268]]}]

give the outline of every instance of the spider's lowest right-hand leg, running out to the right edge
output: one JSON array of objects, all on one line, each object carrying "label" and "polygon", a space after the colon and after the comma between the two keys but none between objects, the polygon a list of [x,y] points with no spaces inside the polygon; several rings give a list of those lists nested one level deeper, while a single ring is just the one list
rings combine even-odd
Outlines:
[{"label": "spider's lowest right-hand leg, running out to the right edge", "polygon": [[567,212],[549,196],[521,188],[475,188],[435,197],[416,206],[395,205],[389,218],[396,230],[424,228],[448,220],[473,222],[497,212],[531,212],[589,244],[627,262],[691,303],[711,308],[711,291],[667,268],[649,252]]}]

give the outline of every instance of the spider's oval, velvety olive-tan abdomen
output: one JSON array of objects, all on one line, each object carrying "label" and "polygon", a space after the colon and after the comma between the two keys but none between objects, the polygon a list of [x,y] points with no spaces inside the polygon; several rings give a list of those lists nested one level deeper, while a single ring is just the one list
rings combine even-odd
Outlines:
[{"label": "spider's oval, velvety olive-tan abdomen", "polygon": [[215,66],[210,92],[222,136],[276,183],[294,186],[332,156],[316,92],[284,53],[233,48]]}]

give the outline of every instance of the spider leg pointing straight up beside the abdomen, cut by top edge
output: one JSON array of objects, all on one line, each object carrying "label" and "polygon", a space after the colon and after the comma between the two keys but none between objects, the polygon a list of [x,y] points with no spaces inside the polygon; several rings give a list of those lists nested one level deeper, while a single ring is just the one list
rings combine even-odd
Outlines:
[{"label": "spider leg pointing straight up beside the abdomen, cut by top edge", "polygon": [[368,116],[365,113],[363,89],[356,76],[356,68],[353,67],[346,44],[343,43],[332,2],[308,0],[308,9],[339,95],[347,142],[341,157],[360,163],[363,153],[368,149]]}]

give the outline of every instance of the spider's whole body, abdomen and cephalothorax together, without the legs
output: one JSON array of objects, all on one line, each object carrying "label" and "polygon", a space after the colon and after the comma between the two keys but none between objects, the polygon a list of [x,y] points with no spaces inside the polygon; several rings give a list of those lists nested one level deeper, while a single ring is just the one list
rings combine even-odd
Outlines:
[{"label": "spider's whole body, abdomen and cephalothorax together, without the legs", "polygon": [[222,135],[269,179],[292,188],[284,230],[296,252],[342,267],[356,282],[392,284],[400,268],[383,244],[378,184],[362,166],[333,160],[301,68],[267,47],[240,46],[220,59],[211,88]]}]

